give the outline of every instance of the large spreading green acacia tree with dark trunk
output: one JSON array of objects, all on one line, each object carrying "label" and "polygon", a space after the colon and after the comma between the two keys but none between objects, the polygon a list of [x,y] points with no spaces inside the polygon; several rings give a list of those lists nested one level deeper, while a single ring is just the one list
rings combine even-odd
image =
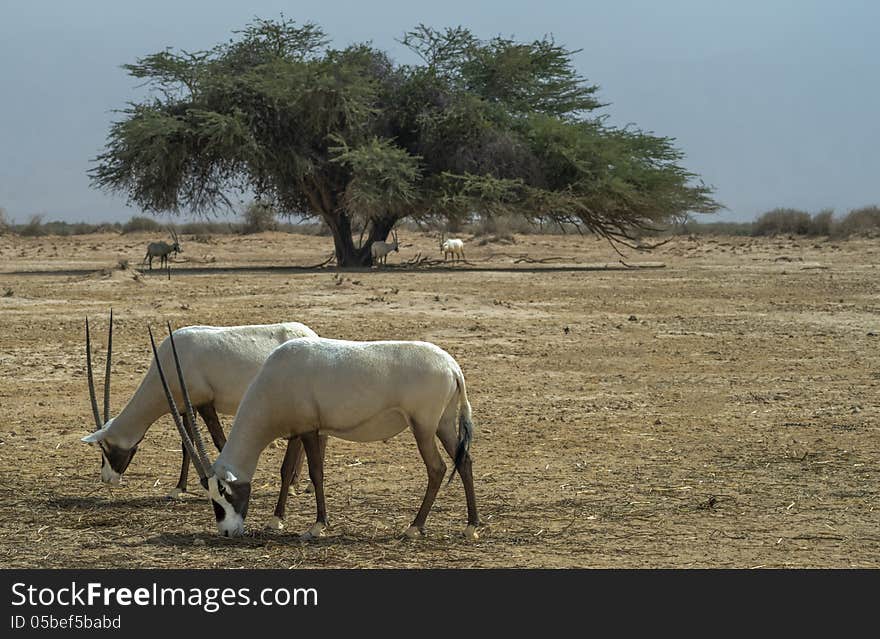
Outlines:
[{"label": "large spreading green acacia tree with dark trunk", "polygon": [[282,16],[125,65],[151,95],[111,126],[92,184],[151,212],[231,210],[230,193],[251,192],[323,219],[340,266],[370,264],[407,217],[513,214],[626,242],[719,208],[670,138],[594,114],[576,51],[424,25],[402,42],[420,63],[333,48]]}]

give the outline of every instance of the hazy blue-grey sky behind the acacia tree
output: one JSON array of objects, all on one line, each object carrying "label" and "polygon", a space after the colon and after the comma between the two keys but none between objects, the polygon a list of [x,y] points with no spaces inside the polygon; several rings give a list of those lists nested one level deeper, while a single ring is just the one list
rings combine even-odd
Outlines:
[{"label": "hazy blue-grey sky behind the acacia tree", "polygon": [[674,137],[685,166],[751,219],[776,207],[880,204],[880,2],[872,0],[0,0],[0,206],[68,221],[124,220],[86,171],[112,110],[140,94],[120,65],[196,50],[254,16],[321,24],[337,46],[423,22],[481,37],[552,34],[583,51],[611,122]]}]

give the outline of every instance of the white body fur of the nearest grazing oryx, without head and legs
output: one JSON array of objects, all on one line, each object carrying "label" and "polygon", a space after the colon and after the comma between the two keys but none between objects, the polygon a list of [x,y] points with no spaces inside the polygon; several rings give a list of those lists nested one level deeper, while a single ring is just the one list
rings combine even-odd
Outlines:
[{"label": "white body fur of the nearest grazing oryx, without head and legs", "polygon": [[461,368],[434,344],[295,339],[254,378],[213,472],[249,482],[273,440],[314,432],[370,442],[410,428],[432,444],[441,430],[457,439],[470,413]]}]

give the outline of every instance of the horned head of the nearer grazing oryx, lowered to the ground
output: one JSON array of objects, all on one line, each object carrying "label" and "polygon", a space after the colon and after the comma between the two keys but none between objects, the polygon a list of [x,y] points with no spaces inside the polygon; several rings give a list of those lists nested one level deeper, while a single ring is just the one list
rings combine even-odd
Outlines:
[{"label": "horned head of the nearer grazing oryx, lowered to the ground", "polygon": [[211,506],[214,508],[214,517],[217,519],[217,531],[226,537],[237,537],[244,533],[244,518],[247,516],[248,504],[250,502],[251,483],[249,481],[240,481],[228,469],[219,475],[215,472],[214,464],[211,462],[210,457],[208,457],[205,440],[202,438],[196,423],[195,412],[189,399],[189,390],[186,387],[186,381],[183,378],[183,371],[180,367],[180,359],[177,356],[177,347],[174,345],[174,333],[169,323],[168,336],[171,340],[174,365],[177,368],[177,378],[180,380],[180,390],[183,394],[186,422],[192,427],[192,436],[190,436],[190,431],[186,428],[184,420],[181,419],[181,413],[177,409],[171,389],[168,387],[165,371],[162,370],[162,362],[159,360],[159,353],[156,350],[153,331],[152,329],[148,330],[150,333],[150,344],[153,347],[153,357],[156,360],[159,379],[162,380],[162,388],[165,389],[165,398],[168,400],[171,416],[174,418],[174,423],[177,426],[178,432],[180,432],[183,445],[186,446],[186,450],[192,459],[193,466],[195,466],[196,472],[199,474],[199,481],[201,481],[202,486],[211,497]]}]

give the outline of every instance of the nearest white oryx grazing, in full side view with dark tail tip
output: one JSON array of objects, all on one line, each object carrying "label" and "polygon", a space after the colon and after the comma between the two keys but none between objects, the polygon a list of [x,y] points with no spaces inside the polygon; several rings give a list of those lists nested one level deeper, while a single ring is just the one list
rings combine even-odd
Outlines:
[{"label": "nearest white oryx grazing, in full side view with dark tail tip", "polygon": [[[150,332],[150,340],[153,334]],[[155,341],[153,341],[155,348]],[[174,339],[171,339],[174,351]],[[157,358],[158,361],[158,358]],[[177,365],[186,413],[192,403],[181,366]],[[163,368],[159,376],[167,380]],[[173,393],[166,385],[171,414],[203,483],[207,483],[217,520],[225,536],[244,532],[251,481],[260,454],[279,437],[299,437],[306,450],[314,485],[317,517],[303,539],[321,535],[327,526],[324,503],[324,444],[332,435],[354,442],[386,440],[409,428],[428,470],[428,487],[418,514],[406,531],[414,538],[446,474],[434,437],[453,458],[464,483],[468,525],[465,535],[477,538],[479,525],[469,448],[473,436],[471,405],[464,375],[449,353],[427,342],[348,342],[306,337],[282,344],[266,359],[241,400],[229,439],[213,464],[199,430],[187,432]],[[456,423],[458,429],[456,430]]]}]

